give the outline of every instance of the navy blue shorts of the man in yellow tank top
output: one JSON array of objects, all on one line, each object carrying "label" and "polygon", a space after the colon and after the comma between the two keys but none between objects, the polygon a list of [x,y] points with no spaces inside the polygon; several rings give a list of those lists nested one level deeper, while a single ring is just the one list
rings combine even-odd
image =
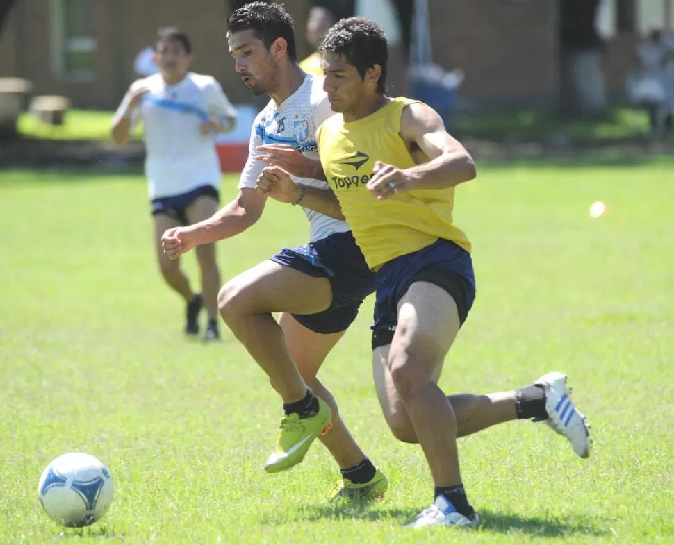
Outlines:
[{"label": "navy blue shorts of the man in yellow tank top", "polygon": [[438,239],[419,251],[401,255],[377,271],[372,349],[391,344],[400,299],[415,282],[443,288],[457,303],[461,324],[475,301],[475,273],[470,253],[450,240]]}]

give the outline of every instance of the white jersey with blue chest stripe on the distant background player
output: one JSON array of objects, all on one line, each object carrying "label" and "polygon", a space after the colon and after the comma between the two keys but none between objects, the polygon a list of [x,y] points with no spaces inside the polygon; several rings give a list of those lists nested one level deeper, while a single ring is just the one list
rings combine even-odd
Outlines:
[{"label": "white jersey with blue chest stripe on the distant background player", "polygon": [[142,119],[150,199],[181,195],[202,185],[220,187],[215,143],[199,132],[199,125],[211,117],[236,119],[220,84],[213,76],[190,72],[177,85],[167,85],[161,74],[154,74],[131,84],[117,116],[141,87],[149,92],[135,111],[133,124]]}]

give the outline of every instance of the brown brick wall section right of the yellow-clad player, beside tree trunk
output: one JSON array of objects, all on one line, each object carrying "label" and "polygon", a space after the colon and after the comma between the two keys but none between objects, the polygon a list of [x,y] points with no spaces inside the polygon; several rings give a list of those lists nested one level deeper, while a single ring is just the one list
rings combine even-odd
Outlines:
[{"label": "brown brick wall section right of the yellow-clad player, beside tree trunk", "polygon": [[557,0],[430,0],[436,62],[466,73],[482,105],[545,102],[557,91]]}]

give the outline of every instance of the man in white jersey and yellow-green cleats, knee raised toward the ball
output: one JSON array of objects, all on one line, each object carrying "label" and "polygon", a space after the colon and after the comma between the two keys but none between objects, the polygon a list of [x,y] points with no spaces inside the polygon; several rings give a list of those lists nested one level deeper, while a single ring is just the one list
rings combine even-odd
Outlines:
[{"label": "man in white jersey and yellow-green cleats, knee raised toward the ball", "polygon": [[[243,82],[254,94],[268,94],[271,100],[252,127],[236,199],[209,219],[168,230],[163,247],[172,259],[252,226],[266,202],[255,187],[266,166],[256,159],[258,146],[291,144],[307,157],[318,158],[316,128],[332,115],[322,78],[305,74],[297,64],[293,19],[282,6],[249,3],[232,12],[227,31]],[[317,168],[321,170],[320,164]],[[304,201],[311,203],[314,192],[327,184],[313,179],[311,172],[306,175],[295,182]],[[372,499],[386,491],[388,480],[351,437],[333,396],[316,374],[356,318],[363,299],[374,291],[374,274],[344,221],[309,207],[305,213],[309,244],[283,249],[230,280],[220,291],[220,314],[283,398],[286,416],[265,470],[275,473],[302,461],[320,435],[342,473],[330,496]],[[278,323],[272,312],[281,312]]]}]

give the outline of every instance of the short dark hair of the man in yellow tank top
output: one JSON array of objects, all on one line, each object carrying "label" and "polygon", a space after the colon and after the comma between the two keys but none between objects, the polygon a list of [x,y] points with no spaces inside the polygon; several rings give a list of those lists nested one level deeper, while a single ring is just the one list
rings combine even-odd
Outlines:
[{"label": "short dark hair of the man in yellow tank top", "polygon": [[343,56],[354,66],[361,78],[369,68],[381,66],[377,92],[386,92],[386,65],[388,65],[388,41],[384,31],[365,17],[340,19],[325,35],[318,48],[320,53],[331,51]]}]

